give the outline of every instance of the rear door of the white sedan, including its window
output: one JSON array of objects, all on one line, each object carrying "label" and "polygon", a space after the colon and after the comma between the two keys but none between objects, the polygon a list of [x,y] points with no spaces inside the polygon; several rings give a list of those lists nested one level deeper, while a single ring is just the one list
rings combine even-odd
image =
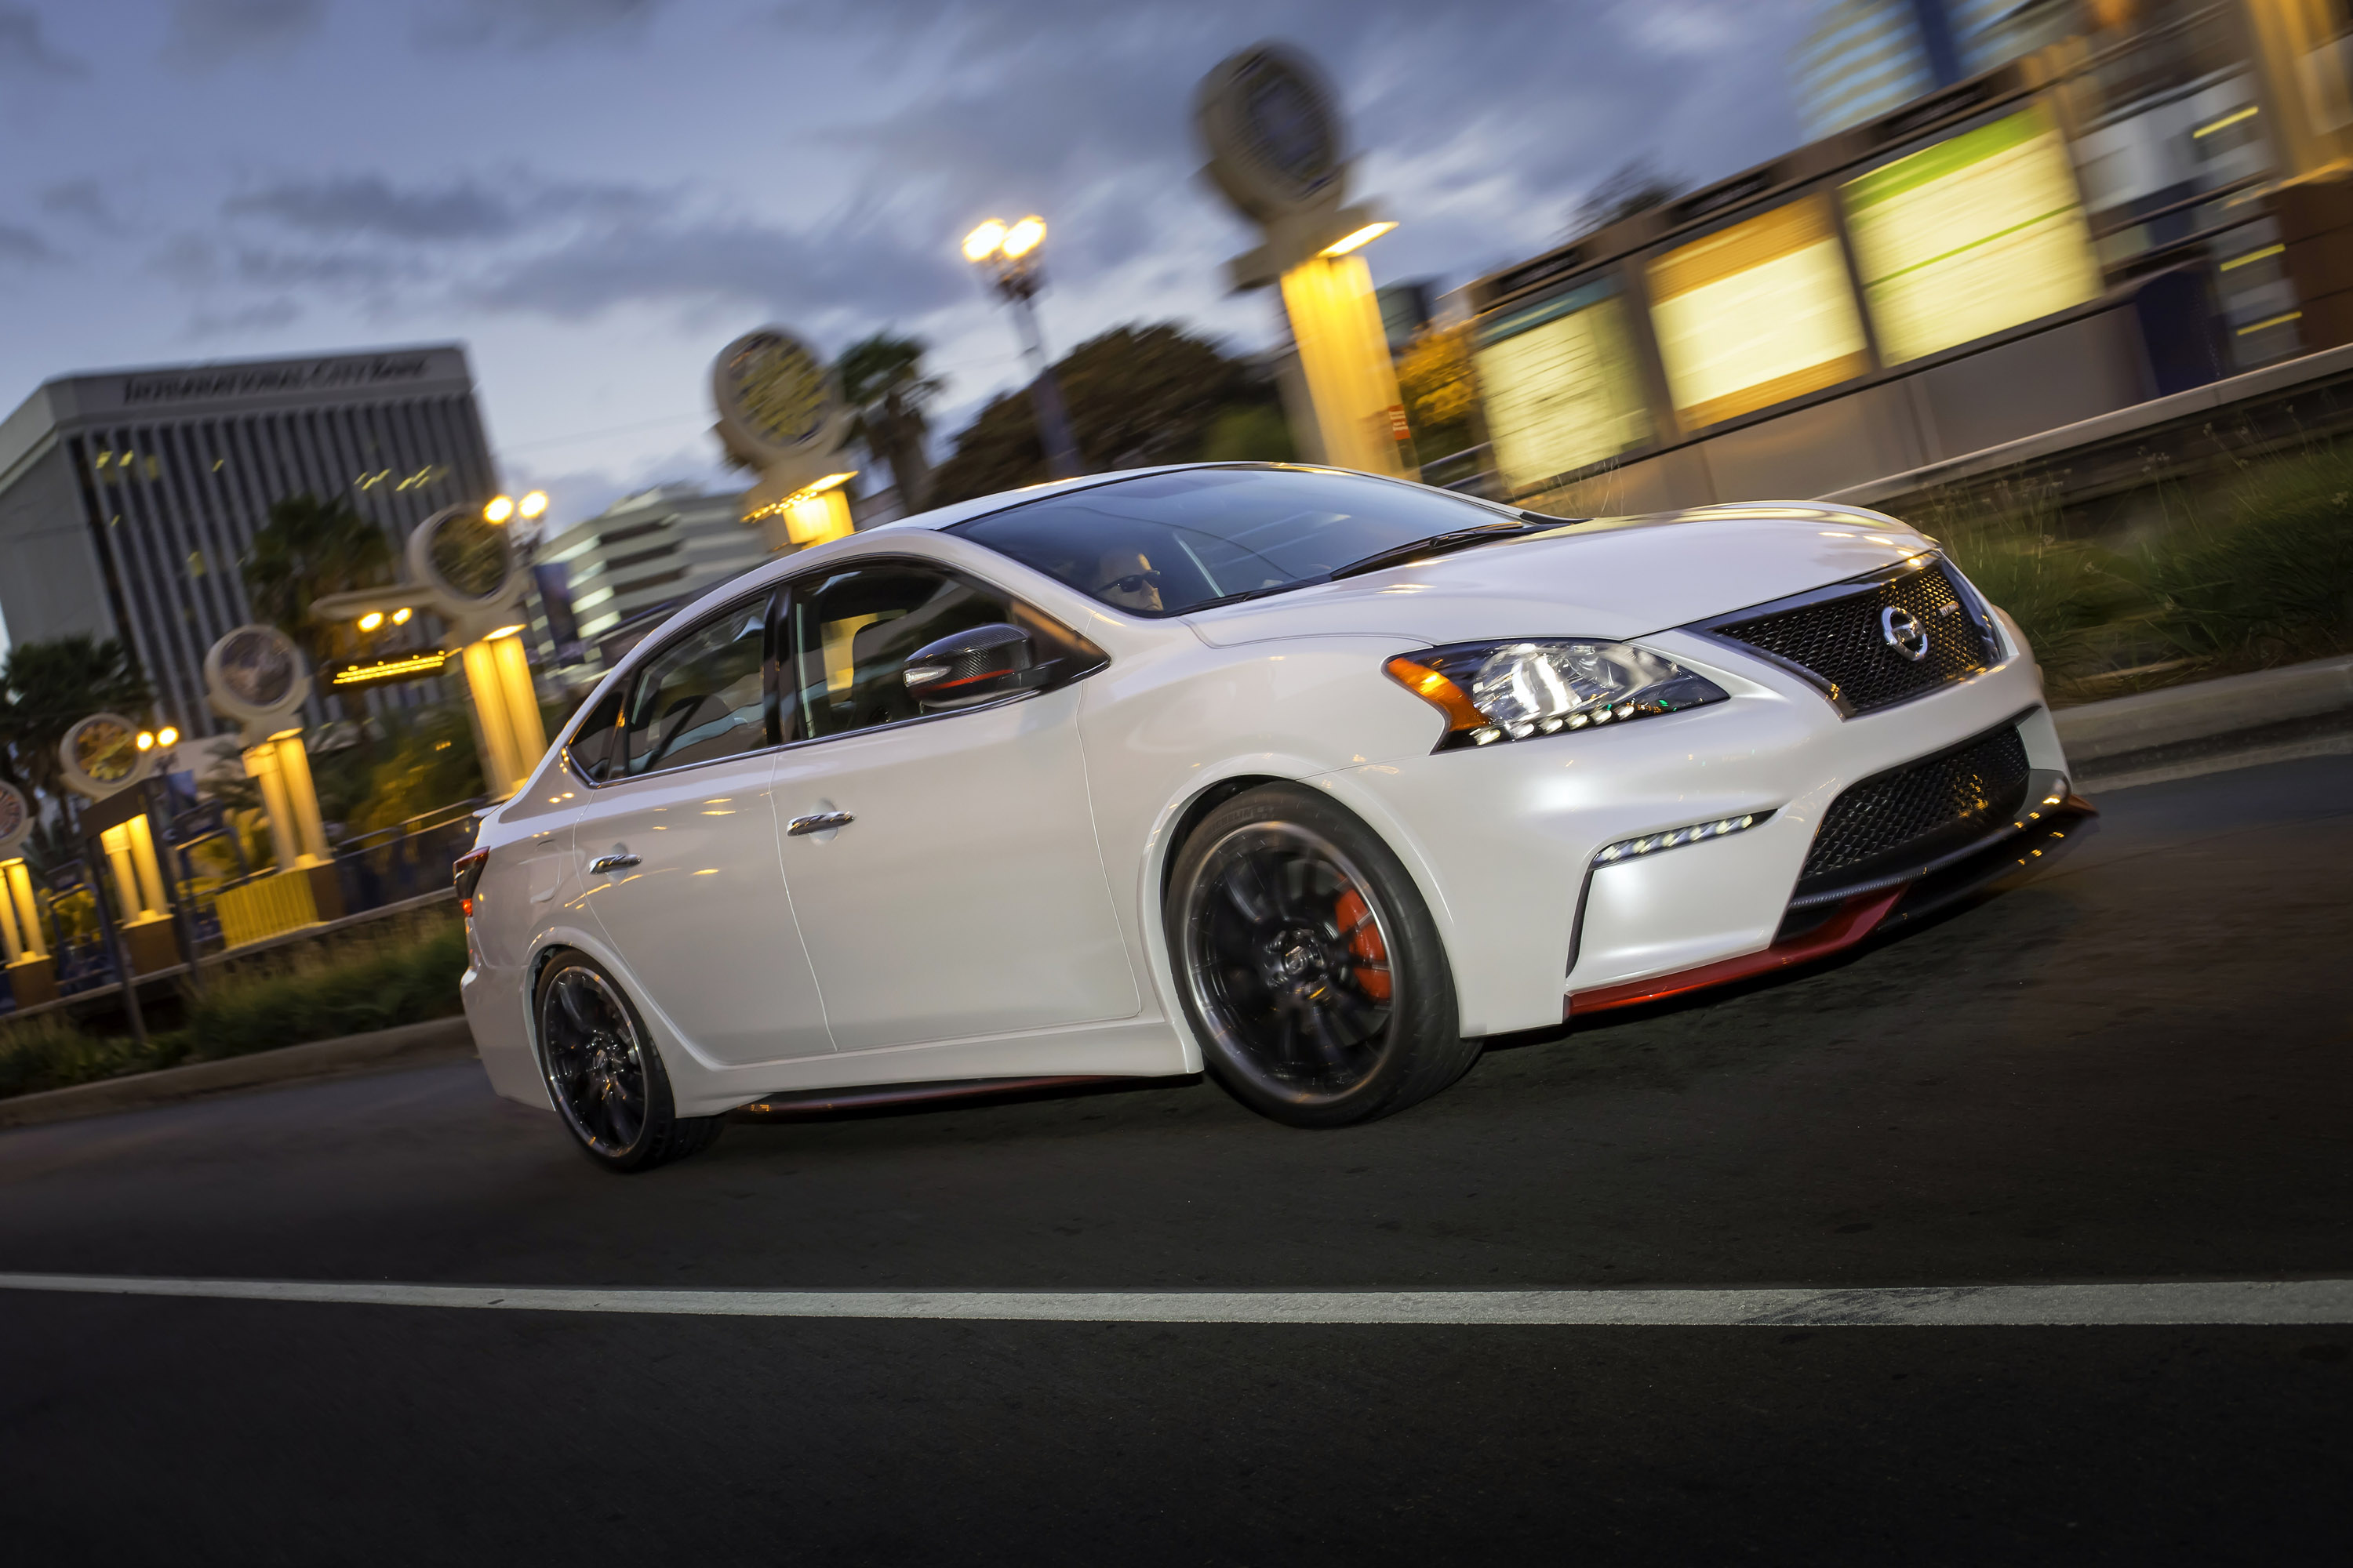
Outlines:
[{"label": "rear door of the white sedan, including its window", "polygon": [[640,1004],[722,1067],[833,1048],[776,865],[769,611],[739,599],[645,658],[598,715],[605,776],[574,827]]}]

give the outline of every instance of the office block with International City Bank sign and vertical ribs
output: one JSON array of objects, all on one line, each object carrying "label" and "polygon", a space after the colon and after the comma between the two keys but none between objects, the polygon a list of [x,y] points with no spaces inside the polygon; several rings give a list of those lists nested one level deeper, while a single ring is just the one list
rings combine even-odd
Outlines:
[{"label": "office block with International City Bank sign and vertical ribs", "polygon": [[238,562],[275,501],[351,501],[398,545],[494,491],[459,343],[59,376],[0,423],[0,621],[120,637],[160,722],[226,731],[205,651],[254,618]]}]

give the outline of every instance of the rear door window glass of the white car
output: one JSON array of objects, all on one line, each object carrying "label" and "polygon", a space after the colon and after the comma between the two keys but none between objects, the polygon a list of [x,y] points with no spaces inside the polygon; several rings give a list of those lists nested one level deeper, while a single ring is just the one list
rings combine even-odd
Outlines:
[{"label": "rear door window glass of the white car", "polygon": [[767,599],[734,604],[645,661],[621,715],[626,776],[767,745]]}]

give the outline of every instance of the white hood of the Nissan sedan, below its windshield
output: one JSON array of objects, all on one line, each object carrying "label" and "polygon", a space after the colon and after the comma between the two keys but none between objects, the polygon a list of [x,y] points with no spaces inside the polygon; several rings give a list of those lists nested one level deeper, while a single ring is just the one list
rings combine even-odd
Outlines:
[{"label": "white hood of the Nissan sedan, below its windshield", "polygon": [[1913,527],[1807,503],[1598,517],[1186,616],[1209,644],[1275,637],[1647,637],[1934,548]]}]

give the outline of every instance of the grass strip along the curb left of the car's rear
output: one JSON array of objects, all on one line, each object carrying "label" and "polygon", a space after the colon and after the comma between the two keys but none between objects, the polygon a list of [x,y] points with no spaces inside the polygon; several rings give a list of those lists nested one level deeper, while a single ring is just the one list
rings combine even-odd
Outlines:
[{"label": "grass strip along the curb left of the car's rear", "polygon": [[0,1098],[447,1018],[461,973],[466,931],[449,924],[282,973],[214,978],[184,994],[181,1027],[151,1032],[146,1048],[85,1032],[66,1011],[0,1018]]}]

